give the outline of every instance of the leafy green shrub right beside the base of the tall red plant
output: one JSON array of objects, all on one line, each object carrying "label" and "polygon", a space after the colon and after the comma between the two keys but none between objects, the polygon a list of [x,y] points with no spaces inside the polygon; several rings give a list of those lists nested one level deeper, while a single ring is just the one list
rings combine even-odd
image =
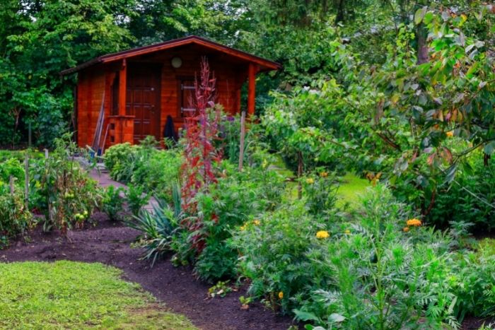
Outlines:
[{"label": "leafy green shrub right beside the base of the tall red plant", "polygon": [[[197,213],[188,215],[201,217],[202,227],[175,240],[175,260],[192,262],[197,276],[210,283],[235,278],[238,249],[231,245],[232,232],[243,223],[259,221],[264,211],[278,206],[285,188],[281,176],[272,170],[246,168],[238,172],[235,165],[222,165],[225,177],[194,197]],[[204,249],[194,255],[191,241],[198,233],[205,237]]]}]

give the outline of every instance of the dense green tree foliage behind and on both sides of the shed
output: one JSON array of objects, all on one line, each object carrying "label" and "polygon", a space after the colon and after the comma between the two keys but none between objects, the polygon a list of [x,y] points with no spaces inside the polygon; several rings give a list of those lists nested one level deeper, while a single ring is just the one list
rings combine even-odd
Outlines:
[{"label": "dense green tree foliage behind and on both sides of the shed", "polygon": [[283,65],[258,79],[257,111],[289,163],[385,172],[425,211],[470,154],[495,151],[494,13],[465,0],[6,0],[0,144],[25,141],[30,122],[40,145],[71,128],[75,77],[59,71],[196,34]]}]

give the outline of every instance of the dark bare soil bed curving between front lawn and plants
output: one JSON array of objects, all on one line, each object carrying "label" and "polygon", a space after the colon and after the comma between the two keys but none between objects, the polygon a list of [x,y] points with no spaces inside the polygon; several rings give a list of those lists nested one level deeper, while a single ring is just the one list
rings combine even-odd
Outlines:
[{"label": "dark bare soil bed curving between front lawn and plants", "polygon": [[293,324],[265,309],[260,303],[241,310],[240,295],[245,285],[226,297],[209,298],[210,285],[197,281],[192,270],[175,267],[169,260],[157,261],[153,268],[140,261],[143,249],[132,248],[139,234],[136,230],[112,223],[102,213],[95,215],[94,228],[71,230],[67,238],[57,232],[44,233],[40,228],[30,232],[29,239],[0,251],[0,261],[55,261],[60,259],[101,262],[124,271],[124,278],[139,283],[173,312],[185,314],[200,329],[284,329]]}]

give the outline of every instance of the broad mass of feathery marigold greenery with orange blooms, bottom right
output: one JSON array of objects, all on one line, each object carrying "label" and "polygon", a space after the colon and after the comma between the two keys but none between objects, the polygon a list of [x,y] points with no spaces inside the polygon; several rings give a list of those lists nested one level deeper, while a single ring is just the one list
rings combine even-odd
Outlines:
[{"label": "broad mass of feathery marigold greenery with orange blooms, bottom right", "polygon": [[455,252],[450,235],[409,214],[378,185],[350,221],[296,203],[241,226],[233,246],[251,295],[325,328],[457,327],[465,314],[493,314],[494,249]]}]

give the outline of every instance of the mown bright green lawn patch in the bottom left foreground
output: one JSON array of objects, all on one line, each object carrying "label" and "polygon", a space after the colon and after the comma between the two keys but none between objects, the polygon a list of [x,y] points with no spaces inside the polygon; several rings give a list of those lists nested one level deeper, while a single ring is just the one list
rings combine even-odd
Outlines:
[{"label": "mown bright green lawn patch in the bottom left foreground", "polygon": [[73,261],[0,264],[0,329],[196,329],[121,275]]}]

